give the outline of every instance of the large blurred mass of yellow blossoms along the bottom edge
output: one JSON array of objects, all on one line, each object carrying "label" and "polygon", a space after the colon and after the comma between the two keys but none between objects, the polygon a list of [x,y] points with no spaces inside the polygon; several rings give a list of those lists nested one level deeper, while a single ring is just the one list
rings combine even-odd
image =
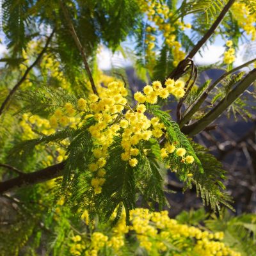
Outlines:
[{"label": "large blurred mass of yellow blossoms along the bottom edge", "polygon": [[[166,252],[172,244],[175,244],[178,250],[186,252],[188,256],[240,255],[220,242],[223,239],[223,232],[214,234],[202,231],[200,228],[180,224],[177,220],[168,217],[168,211],[150,213],[147,209],[134,209],[130,214],[132,225],[129,228],[136,232],[140,245],[149,253],[155,248],[159,253]],[[189,246],[188,239],[193,246]],[[179,243],[175,243],[176,241]],[[178,256],[179,253],[173,255]]]}]

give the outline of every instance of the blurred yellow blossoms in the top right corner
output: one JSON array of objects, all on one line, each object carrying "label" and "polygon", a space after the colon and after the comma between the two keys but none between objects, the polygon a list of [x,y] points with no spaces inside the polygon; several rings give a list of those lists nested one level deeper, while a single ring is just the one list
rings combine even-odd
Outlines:
[{"label": "blurred yellow blossoms in the top right corner", "polygon": [[245,3],[236,2],[233,4],[232,13],[238,25],[246,31],[247,35],[252,36],[252,40],[256,38],[256,13],[250,13]]}]

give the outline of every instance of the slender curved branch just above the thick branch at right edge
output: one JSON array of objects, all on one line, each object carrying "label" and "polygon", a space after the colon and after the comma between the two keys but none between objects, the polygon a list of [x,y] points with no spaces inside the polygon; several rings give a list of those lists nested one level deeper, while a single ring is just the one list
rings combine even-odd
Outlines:
[{"label": "slender curved branch just above the thick branch at right edge", "polygon": [[211,85],[209,85],[204,92],[202,93],[202,95],[195,100],[195,102],[193,102],[193,104],[186,110],[186,115],[183,116],[183,118],[180,120],[180,128],[182,128],[187,122],[188,120],[190,120],[190,118],[196,113],[196,111],[198,111],[198,109],[200,108],[200,106],[204,103],[205,99],[208,97],[209,93],[211,92],[212,89],[215,88],[215,86],[217,86],[225,77],[229,76],[230,74],[236,72],[237,70],[247,67],[248,65],[254,63],[256,61],[256,59],[250,60],[246,63],[244,63],[243,65],[240,65],[236,68],[233,68],[232,70],[224,73],[222,76],[220,76],[214,83],[212,83]]}]

